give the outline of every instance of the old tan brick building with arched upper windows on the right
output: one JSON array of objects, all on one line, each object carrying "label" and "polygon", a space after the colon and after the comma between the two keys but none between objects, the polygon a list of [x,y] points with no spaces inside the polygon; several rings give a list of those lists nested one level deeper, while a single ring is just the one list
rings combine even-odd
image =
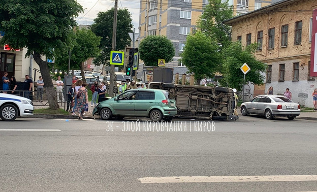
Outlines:
[{"label": "old tan brick building with arched upper windows on the right", "polygon": [[256,57],[267,63],[266,83],[255,86],[253,93],[264,94],[273,86],[274,94],[292,92],[296,103],[313,107],[311,93],[317,86],[309,76],[312,12],[315,0],[284,0],[234,17],[232,41],[247,46],[258,43]]}]

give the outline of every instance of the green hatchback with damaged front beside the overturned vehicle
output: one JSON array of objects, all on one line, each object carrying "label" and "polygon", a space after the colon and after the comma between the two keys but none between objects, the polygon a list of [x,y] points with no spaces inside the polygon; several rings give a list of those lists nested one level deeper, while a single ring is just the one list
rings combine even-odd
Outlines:
[{"label": "green hatchback with damaged front beside the overturned vehicle", "polygon": [[175,99],[166,90],[131,89],[100,102],[92,111],[107,120],[111,117],[149,117],[152,121],[171,121],[177,114]]}]

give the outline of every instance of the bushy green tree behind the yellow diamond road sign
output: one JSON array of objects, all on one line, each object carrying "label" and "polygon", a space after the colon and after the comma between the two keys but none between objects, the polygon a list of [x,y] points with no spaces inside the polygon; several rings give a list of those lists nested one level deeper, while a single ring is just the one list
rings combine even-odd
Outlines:
[{"label": "bushy green tree behind the yellow diamond road sign", "polygon": [[236,88],[238,91],[243,89],[243,73],[240,67],[247,63],[250,71],[245,75],[245,82],[256,85],[264,83],[265,77],[261,74],[266,71],[267,65],[255,56],[257,44],[242,47],[240,41],[233,42],[224,52],[224,74],[220,80],[221,85]]}]

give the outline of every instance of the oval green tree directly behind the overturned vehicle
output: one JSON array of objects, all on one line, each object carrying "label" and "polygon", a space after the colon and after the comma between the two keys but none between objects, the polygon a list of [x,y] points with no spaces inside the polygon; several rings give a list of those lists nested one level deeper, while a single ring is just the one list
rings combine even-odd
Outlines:
[{"label": "oval green tree directly behind the overturned vehicle", "polygon": [[189,72],[194,73],[198,85],[202,78],[213,77],[219,64],[217,44],[201,31],[187,36],[181,57]]}]

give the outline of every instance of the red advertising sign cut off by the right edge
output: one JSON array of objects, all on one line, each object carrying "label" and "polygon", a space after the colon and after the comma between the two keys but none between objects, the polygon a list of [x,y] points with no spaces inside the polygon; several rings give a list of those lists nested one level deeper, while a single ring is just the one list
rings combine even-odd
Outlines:
[{"label": "red advertising sign cut off by the right edge", "polygon": [[317,9],[312,11],[310,76],[317,76]]}]

